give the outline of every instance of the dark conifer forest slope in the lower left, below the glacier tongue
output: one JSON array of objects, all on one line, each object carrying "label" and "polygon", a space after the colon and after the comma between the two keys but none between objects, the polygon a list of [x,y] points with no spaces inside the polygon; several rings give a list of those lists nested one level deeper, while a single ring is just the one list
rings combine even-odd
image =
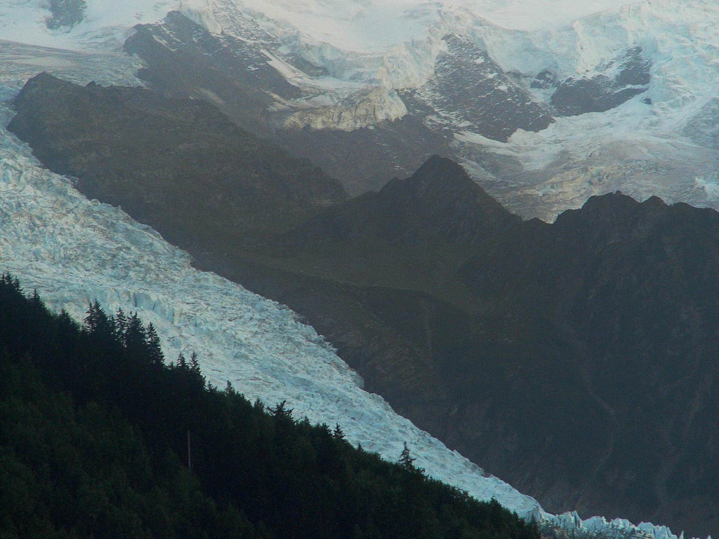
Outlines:
[{"label": "dark conifer forest slope in the lower left, below the glacier tongue", "polygon": [[[188,459],[188,441],[191,454]],[[191,464],[191,467],[188,466]],[[0,278],[1,538],[539,539],[495,502],[165,364],[152,325],[83,326]]]}]

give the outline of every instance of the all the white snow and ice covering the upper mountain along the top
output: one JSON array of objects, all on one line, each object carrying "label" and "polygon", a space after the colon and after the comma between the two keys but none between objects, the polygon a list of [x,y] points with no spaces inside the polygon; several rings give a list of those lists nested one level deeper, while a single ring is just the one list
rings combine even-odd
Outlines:
[{"label": "all the white snow and ice covering the upper mountain along the top", "polygon": [[[503,143],[450,126],[463,164],[509,202],[493,190],[482,155],[516,160],[526,175],[500,174],[498,185],[509,183],[521,195],[536,197],[541,208],[514,209],[546,221],[590,195],[618,189],[638,200],[659,195],[667,203],[719,208],[715,0],[88,0],[81,22],[55,30],[45,24],[50,11],[44,0],[9,0],[0,4],[0,40],[117,52],[134,24],[159,22],[173,9],[210,32],[239,39],[252,40],[248,22],[259,25],[280,43],[278,53],[326,70],[328,75],[309,77],[268,52],[267,62],[290,83],[314,88],[327,103],[383,96],[372,101],[374,113],[362,118],[350,117],[350,106],[341,115],[301,111],[290,121],[316,129],[351,130],[406,114],[395,92],[431,79],[447,34],[470,38],[545,104],[551,92],[531,88],[538,73],[549,70],[560,81],[612,75],[608,63],[640,47],[651,62],[646,92],[604,113],[558,118],[539,133],[520,130]],[[605,167],[608,181],[596,185],[581,172],[571,178],[557,173],[587,166]],[[547,167],[554,167],[551,181],[536,185],[548,177],[541,172]]]}]

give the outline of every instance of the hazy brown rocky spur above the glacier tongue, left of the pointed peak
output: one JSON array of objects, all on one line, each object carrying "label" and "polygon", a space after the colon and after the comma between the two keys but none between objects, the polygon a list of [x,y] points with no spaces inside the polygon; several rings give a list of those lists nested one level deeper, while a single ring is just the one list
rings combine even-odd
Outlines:
[{"label": "hazy brown rocky spur above the glacier tongue, left of the pointed peak", "polygon": [[311,162],[244,132],[204,101],[81,88],[47,74],[29,80],[23,101],[32,106],[10,129],[35,155],[78,178],[88,197],[122,204],[141,221],[283,229],[346,197]]}]

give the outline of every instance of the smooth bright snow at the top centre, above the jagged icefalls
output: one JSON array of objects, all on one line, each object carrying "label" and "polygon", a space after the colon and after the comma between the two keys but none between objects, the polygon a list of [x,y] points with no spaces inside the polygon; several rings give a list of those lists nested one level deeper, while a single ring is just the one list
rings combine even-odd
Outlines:
[{"label": "smooth bright snow at the top centre, above the jagged icefalls", "polygon": [[[191,0],[193,1],[193,0]],[[424,40],[446,17],[465,12],[503,29],[568,27],[582,17],[641,0],[195,0],[201,9],[250,10],[270,24],[296,29],[309,42],[348,52],[388,50]],[[185,2],[188,11],[196,4]]]}]

